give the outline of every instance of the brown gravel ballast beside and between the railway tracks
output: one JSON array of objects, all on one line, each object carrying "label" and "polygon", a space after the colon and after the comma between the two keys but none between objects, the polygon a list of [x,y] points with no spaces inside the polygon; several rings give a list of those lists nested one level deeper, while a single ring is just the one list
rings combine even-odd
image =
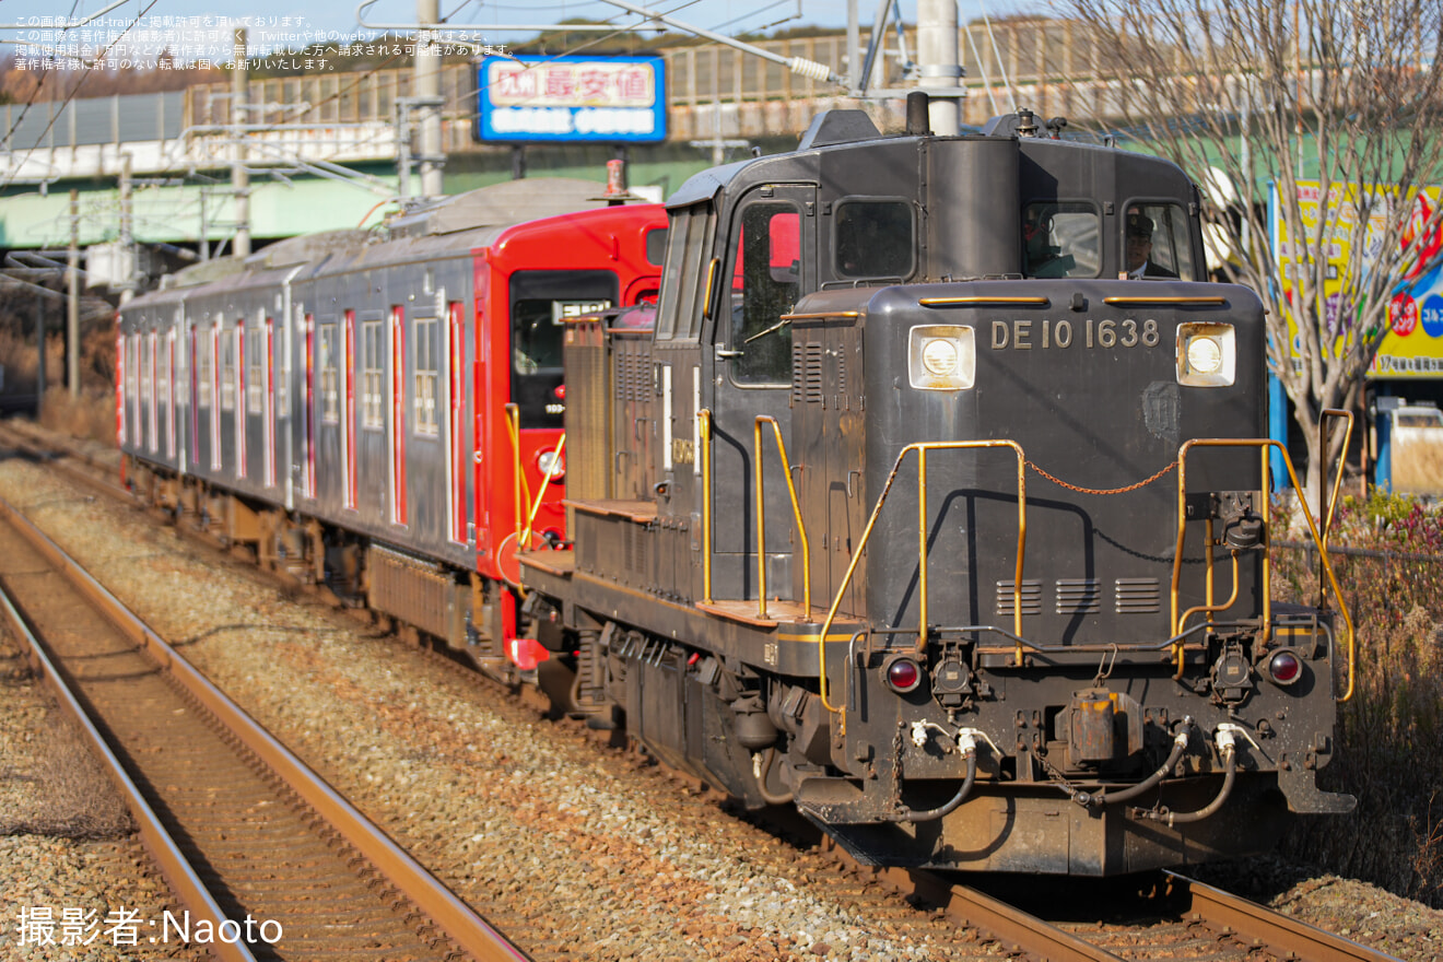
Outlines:
[{"label": "brown gravel ballast beside and between the railway tracks", "polygon": [[[986,952],[957,945],[942,923],[915,937],[893,935],[870,904],[843,894],[850,890],[823,857],[722,818],[713,800],[671,780],[639,777],[635,756],[557,733],[378,629],[280,591],[137,511],[88,498],[17,459],[0,462],[0,496],[538,959]],[[0,671],[14,663],[0,661]],[[36,724],[36,710],[12,697],[25,684],[10,679],[3,692],[4,753],[23,741],[13,733]],[[0,756],[4,772],[26,764],[33,762]],[[17,824],[6,819],[13,806],[25,808],[17,798],[29,798],[19,785],[0,783],[0,825]],[[13,943],[17,906],[36,886],[58,886],[55,897],[82,890],[130,897],[124,877],[85,875],[84,855],[72,858],[74,878],[45,881],[33,873],[63,860],[46,860],[42,870],[25,848],[95,844],[0,838],[3,958],[92,958],[19,955]],[[1359,883],[1268,865],[1245,871],[1283,912],[1400,958],[1443,958],[1443,913]]]}]

